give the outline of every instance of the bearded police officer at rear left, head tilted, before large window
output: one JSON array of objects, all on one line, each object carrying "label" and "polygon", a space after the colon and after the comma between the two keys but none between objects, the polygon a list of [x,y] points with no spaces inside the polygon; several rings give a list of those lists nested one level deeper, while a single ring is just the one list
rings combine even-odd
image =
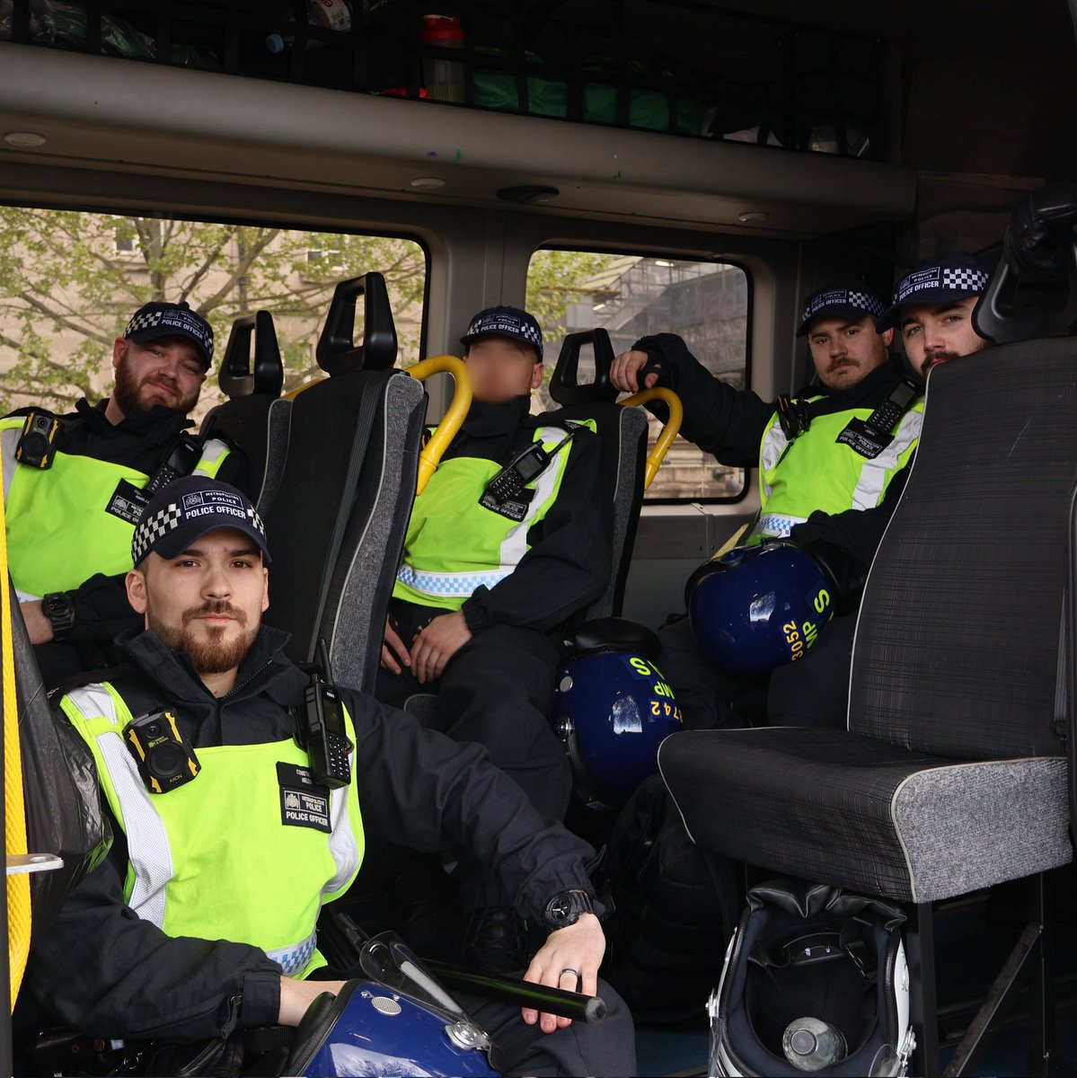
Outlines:
[{"label": "bearded police officer at rear left, head tilted, before large window", "polygon": [[123,572],[142,488],[194,471],[247,485],[241,454],[184,433],[212,358],[213,331],[187,303],[147,303],[113,344],[111,397],[0,420],[11,576],[46,686],[139,624]]}]

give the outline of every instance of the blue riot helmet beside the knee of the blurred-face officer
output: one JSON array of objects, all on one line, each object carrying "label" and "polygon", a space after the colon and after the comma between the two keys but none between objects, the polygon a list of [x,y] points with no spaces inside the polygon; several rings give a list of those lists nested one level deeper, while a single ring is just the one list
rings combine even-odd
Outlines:
[{"label": "blue riot helmet beside the knee of the blurred-face officer", "polygon": [[618,805],[658,771],[658,747],[681,729],[654,662],[658,637],[623,618],[588,622],[557,672],[553,724],[584,800]]}]

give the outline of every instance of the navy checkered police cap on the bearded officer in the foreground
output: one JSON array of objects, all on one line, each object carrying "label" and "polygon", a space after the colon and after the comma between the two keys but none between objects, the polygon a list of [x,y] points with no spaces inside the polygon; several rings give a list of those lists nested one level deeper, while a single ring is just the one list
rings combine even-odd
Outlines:
[{"label": "navy checkered police cap on the bearded officer in the foreground", "polygon": [[178,557],[196,539],[217,528],[249,536],[270,564],[265,525],[246,495],[220,480],[185,475],[158,490],[146,507],[130,541],[138,565],[148,554]]}]

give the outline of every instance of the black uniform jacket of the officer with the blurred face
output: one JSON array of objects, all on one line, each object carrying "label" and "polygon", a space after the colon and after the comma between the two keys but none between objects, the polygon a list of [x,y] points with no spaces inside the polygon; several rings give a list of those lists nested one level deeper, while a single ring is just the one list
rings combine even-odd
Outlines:
[{"label": "black uniform jacket of the officer with the blurred face", "polygon": [[[507,465],[534,442],[535,431],[546,423],[547,417],[528,414],[529,404],[529,397],[503,403],[475,401],[443,459],[481,457]],[[544,632],[605,592],[613,498],[603,486],[602,440],[584,428],[567,448],[568,465],[557,498],[527,533],[530,550],[505,580],[494,588],[478,588],[465,602],[464,617],[472,633],[491,625]],[[486,512],[478,505],[461,507],[461,512],[467,510]]]}]

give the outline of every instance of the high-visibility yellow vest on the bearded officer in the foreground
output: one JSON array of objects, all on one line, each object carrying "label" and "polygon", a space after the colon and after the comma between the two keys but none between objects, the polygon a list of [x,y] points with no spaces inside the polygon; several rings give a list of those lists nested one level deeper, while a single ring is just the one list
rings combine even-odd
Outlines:
[{"label": "high-visibility yellow vest on the bearded officer in the foreground", "polygon": [[[278,763],[309,765],[288,738],[199,748],[202,770],[191,782],[151,793],[124,744],[132,714],[114,686],[75,689],[60,707],[94,754],[126,835],[124,900],[139,917],[168,936],[249,943],[290,977],[326,965],[318,911],[347,889],[362,861],[354,778],[328,791],[285,785]],[[344,719],[356,744],[347,711]],[[327,824],[328,833],[316,826]]]}]

